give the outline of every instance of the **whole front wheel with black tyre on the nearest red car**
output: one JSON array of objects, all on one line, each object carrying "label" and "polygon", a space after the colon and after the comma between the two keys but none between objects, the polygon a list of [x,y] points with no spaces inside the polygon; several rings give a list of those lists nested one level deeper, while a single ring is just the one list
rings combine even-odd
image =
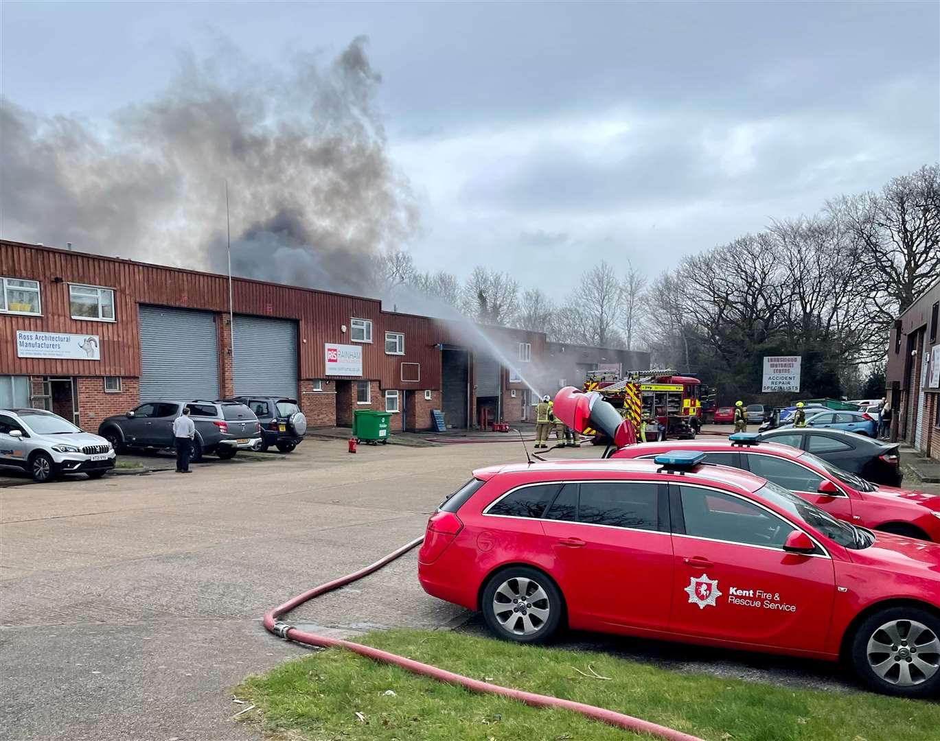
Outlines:
[{"label": "whole front wheel with black tyre on the nearest red car", "polygon": [[940,694],[940,616],[915,606],[878,610],[855,629],[850,659],[855,675],[876,692]]}]

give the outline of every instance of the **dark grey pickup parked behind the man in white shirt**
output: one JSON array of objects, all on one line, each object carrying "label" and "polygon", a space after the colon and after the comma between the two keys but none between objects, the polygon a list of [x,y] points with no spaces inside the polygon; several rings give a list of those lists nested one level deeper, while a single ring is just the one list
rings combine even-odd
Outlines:
[{"label": "dark grey pickup parked behind the man in white shirt", "polygon": [[173,420],[180,416],[183,407],[189,407],[189,416],[196,424],[194,461],[205,453],[227,459],[240,450],[258,448],[261,444],[255,412],[243,404],[202,399],[188,403],[149,401],[125,414],[106,418],[98,427],[98,434],[118,451],[171,450],[176,443]]}]

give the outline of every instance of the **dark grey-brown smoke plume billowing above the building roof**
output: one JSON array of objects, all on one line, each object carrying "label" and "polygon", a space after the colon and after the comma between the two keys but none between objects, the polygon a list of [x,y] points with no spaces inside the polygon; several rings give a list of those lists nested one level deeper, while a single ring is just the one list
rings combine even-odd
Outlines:
[{"label": "dark grey-brown smoke plume billowing above the building roof", "polygon": [[0,234],[224,271],[227,180],[234,273],[367,290],[417,219],[365,44],[276,70],[231,48],[183,54],[162,94],[104,125],[0,98]]}]

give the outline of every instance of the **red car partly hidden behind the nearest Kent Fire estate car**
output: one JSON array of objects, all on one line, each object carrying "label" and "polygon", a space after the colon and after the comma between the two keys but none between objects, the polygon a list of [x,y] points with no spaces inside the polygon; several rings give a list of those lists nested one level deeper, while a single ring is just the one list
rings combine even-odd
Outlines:
[{"label": "red car partly hidden behind the nearest Kent Fire estate car", "polygon": [[628,445],[612,458],[651,458],[672,450],[705,453],[706,463],[744,469],[772,481],[830,515],[870,530],[940,543],[940,497],[878,486],[790,445],[752,440],[671,440]]}]

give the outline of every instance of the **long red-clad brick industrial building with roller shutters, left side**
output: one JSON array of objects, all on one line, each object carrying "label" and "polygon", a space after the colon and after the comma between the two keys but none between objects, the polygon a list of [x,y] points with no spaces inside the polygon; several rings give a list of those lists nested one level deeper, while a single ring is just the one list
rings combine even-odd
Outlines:
[{"label": "long red-clad brick industrial building with roller shutters, left side", "polygon": [[[0,407],[86,429],[152,399],[274,394],[309,424],[354,409],[393,429],[516,422],[561,378],[545,335],[384,311],[382,302],[0,241]],[[649,363],[649,356],[646,356]],[[533,379],[538,379],[538,383]],[[554,393],[555,387],[544,393]]]}]

